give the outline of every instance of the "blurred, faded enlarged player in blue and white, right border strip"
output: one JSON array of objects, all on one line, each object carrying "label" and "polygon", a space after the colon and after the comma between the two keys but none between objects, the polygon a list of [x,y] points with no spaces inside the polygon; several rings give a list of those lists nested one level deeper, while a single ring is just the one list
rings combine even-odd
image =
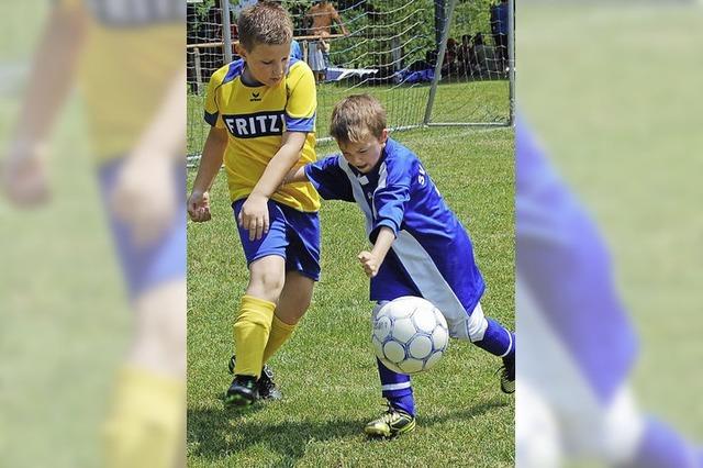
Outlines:
[{"label": "blurred, faded enlarged player in blue and white, right border strip", "polygon": [[[605,244],[524,122],[516,132],[517,464],[556,466],[539,454],[550,413],[563,458],[620,467],[700,467],[703,457],[636,404],[629,372],[637,337],[615,290]],[[535,456],[535,454],[539,454]],[[549,459],[549,460],[547,460]]]}]

